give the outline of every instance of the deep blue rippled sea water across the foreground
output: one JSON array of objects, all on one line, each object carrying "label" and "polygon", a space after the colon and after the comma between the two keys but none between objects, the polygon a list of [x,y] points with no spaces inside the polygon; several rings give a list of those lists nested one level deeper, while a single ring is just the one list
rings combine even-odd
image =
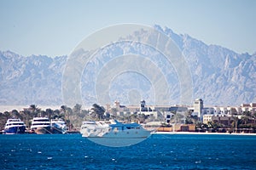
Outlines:
[{"label": "deep blue rippled sea water across the foreground", "polygon": [[0,135],[0,169],[255,169],[256,136],[154,134],[112,148],[80,134]]}]

